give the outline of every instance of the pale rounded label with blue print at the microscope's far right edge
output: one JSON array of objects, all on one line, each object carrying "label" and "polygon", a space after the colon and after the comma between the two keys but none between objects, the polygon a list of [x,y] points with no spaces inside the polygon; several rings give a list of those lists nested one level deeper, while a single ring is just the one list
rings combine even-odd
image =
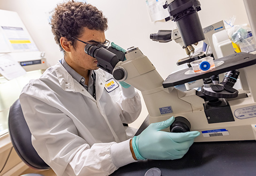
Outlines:
[{"label": "pale rounded label with blue print at the microscope's far right edge", "polygon": [[236,109],[234,115],[238,119],[247,119],[256,117],[256,105],[251,107],[243,107]]}]

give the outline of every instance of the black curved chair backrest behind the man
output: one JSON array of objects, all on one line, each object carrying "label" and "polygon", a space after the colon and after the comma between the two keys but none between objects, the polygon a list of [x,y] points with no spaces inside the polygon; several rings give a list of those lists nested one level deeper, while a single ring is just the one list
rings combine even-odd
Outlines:
[{"label": "black curved chair backrest behind the man", "polygon": [[49,169],[31,143],[31,132],[23,116],[19,99],[10,107],[8,124],[12,144],[20,158],[31,168]]}]

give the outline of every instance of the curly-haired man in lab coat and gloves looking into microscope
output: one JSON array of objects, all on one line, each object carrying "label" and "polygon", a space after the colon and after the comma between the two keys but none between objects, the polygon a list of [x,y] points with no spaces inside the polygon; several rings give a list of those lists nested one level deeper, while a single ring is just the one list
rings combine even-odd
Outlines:
[{"label": "curly-haired man in lab coat and gloves looking into microscope", "polygon": [[[87,43],[108,43],[101,11],[69,1],[55,8],[51,25],[64,57],[23,88],[20,102],[34,148],[58,176],[108,176],[137,160],[178,159],[187,152],[198,132],[160,131],[174,118],[150,125],[138,137],[128,134],[123,123],[140,114],[138,92],[98,69],[84,52]],[[115,84],[110,90],[109,82]]]}]

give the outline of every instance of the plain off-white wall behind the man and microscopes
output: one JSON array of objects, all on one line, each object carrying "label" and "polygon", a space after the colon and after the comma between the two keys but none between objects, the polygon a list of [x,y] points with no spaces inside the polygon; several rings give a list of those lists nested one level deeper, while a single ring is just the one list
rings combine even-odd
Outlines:
[{"label": "plain off-white wall behind the man and microscopes", "polygon": [[[0,0],[0,9],[16,11],[30,32],[40,51],[46,52],[50,65],[62,57],[54,42],[48,24],[48,12],[61,0]],[[165,79],[173,71],[181,69],[176,65],[178,59],[186,57],[183,49],[175,42],[157,43],[149,39],[150,33],[160,29],[172,29],[173,22],[150,21],[145,0],[88,0],[108,17],[109,30],[106,38],[128,48],[137,46],[155,65]],[[236,15],[235,24],[248,23],[243,0],[200,0],[199,12],[202,27]],[[192,34],[193,35],[193,34]],[[182,67],[184,68],[184,67]],[[140,119],[146,117],[143,104]]]}]

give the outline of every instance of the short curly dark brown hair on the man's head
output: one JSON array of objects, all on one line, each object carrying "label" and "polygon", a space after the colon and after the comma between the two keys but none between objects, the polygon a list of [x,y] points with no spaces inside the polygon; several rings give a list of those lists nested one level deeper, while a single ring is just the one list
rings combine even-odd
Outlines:
[{"label": "short curly dark brown hair on the man's head", "polygon": [[55,42],[63,52],[65,51],[60,44],[61,37],[71,41],[75,48],[77,41],[74,38],[80,37],[84,27],[97,31],[108,29],[108,19],[102,14],[102,11],[91,4],[74,0],[58,4],[54,9],[50,24]]}]

